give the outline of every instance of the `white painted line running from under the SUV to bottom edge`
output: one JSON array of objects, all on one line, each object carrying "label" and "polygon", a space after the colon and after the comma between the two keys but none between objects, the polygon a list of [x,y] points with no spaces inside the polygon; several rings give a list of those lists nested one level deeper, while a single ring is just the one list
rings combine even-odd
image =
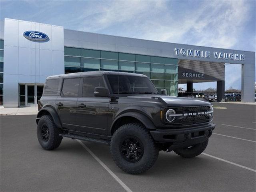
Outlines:
[{"label": "white painted line running from under the SUV to bottom edge", "polygon": [[98,163],[127,191],[127,192],[132,192],[116,174],[114,174],[82,141],[77,140],[90,154],[93,156],[93,158],[98,161]]}]

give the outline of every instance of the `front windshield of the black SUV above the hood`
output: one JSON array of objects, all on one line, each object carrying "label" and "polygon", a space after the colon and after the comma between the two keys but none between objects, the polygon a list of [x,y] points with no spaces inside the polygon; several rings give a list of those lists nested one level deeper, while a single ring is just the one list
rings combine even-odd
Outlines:
[{"label": "front windshield of the black SUV above the hood", "polygon": [[108,75],[113,94],[158,94],[146,77],[130,75]]}]

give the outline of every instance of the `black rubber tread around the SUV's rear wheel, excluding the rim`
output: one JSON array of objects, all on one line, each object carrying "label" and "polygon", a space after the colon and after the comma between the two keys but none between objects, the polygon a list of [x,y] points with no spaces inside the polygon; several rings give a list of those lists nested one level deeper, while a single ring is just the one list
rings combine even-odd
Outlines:
[{"label": "black rubber tread around the SUV's rear wheel, excluding the rim", "polygon": [[[44,148],[45,150],[54,150],[56,148],[58,148],[58,146],[60,146],[60,143],[62,141],[62,137],[59,136],[59,129],[56,127],[52,116],[51,115],[44,115],[41,117],[41,119],[38,122],[38,125],[40,125],[40,121],[41,120],[45,120],[48,124],[48,129],[52,129],[53,131],[50,134],[53,134],[52,139],[49,138],[49,143],[47,144],[47,146],[41,145],[42,148]],[[50,136],[51,137],[51,136]]]}]

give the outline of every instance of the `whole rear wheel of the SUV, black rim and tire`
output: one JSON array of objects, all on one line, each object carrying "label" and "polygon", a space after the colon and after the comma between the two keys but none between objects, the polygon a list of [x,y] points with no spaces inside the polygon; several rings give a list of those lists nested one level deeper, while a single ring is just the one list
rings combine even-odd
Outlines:
[{"label": "whole rear wheel of the SUV, black rim and tire", "polygon": [[40,118],[37,125],[37,138],[45,150],[53,150],[60,146],[62,137],[59,136],[59,129],[54,124],[52,116],[44,115]]}]

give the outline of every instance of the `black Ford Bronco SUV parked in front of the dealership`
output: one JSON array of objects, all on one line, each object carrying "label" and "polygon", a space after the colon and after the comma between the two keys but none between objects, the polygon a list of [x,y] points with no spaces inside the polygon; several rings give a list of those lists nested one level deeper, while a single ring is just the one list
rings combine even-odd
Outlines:
[{"label": "black Ford Bronco SUV parked in front of the dealership", "polygon": [[159,150],[198,156],[215,128],[210,102],[160,95],[147,76],[125,72],[50,76],[38,110],[42,148],[57,148],[63,137],[110,144],[130,174],[151,168]]}]

